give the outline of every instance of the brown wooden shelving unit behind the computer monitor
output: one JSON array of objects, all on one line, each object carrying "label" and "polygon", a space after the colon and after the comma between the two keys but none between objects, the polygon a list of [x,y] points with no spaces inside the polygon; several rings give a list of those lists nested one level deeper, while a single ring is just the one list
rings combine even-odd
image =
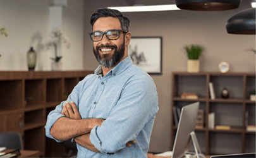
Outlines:
[{"label": "brown wooden shelving unit behind the computer monitor", "polygon": [[[210,99],[209,82],[213,83],[216,99]],[[188,73],[174,71],[171,75],[171,114],[173,106],[182,108],[200,102],[205,113],[205,125],[195,130],[200,149],[205,155],[255,152],[255,132],[245,127],[245,112],[249,111],[249,125],[255,125],[255,101],[250,90],[255,89],[255,73]],[[222,88],[228,88],[229,98],[222,99]],[[198,99],[181,99],[182,92],[196,92]],[[208,115],[215,113],[216,125],[229,125],[230,130],[208,128]],[[173,150],[177,126],[171,117],[171,149]],[[194,151],[193,145],[190,147]]]}]

